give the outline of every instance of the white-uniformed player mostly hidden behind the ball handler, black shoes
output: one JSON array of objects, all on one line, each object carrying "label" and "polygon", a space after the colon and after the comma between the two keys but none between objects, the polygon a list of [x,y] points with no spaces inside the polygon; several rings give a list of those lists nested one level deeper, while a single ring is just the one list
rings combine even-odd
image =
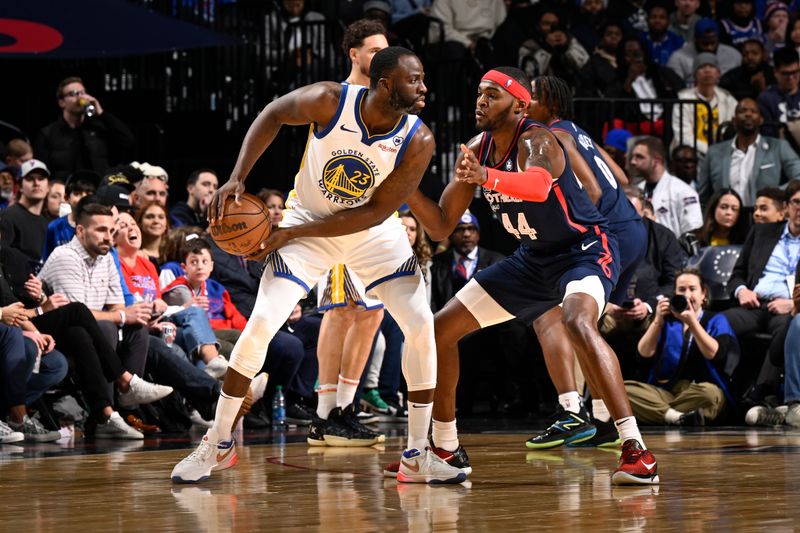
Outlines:
[{"label": "white-uniformed player mostly hidden behind the ball handler, black shoes", "polygon": [[[372,57],[389,46],[385,31],[381,23],[366,19],[347,27],[342,48],[352,67],[345,83],[369,86]],[[383,320],[383,304],[364,292],[364,284],[343,264],[320,278],[317,308],[324,315],[317,343],[318,420],[312,420],[307,439],[312,446],[370,446],[385,439],[359,422],[353,403]]]}]

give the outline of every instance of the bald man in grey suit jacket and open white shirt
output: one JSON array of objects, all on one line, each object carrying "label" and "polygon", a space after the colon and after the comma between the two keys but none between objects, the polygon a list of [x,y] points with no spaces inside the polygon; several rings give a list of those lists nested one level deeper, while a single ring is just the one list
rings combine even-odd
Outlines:
[{"label": "bald man in grey suit jacket and open white shirt", "polygon": [[742,98],[733,117],[736,136],[711,146],[700,166],[697,192],[702,204],[715,191],[730,187],[750,207],[759,189],[800,178],[800,158],[783,139],[759,134],[763,122],[756,101]]}]

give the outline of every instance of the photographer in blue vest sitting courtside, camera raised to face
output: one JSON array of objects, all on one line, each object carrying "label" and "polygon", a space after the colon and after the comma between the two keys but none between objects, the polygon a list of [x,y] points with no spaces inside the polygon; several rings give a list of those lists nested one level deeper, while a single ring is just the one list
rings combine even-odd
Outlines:
[{"label": "photographer in blue vest sitting courtside, camera raised to face", "polygon": [[675,296],[662,298],[639,341],[639,354],[654,357],[648,383],[626,381],[634,415],[644,423],[703,425],[726,401],[739,346],[728,320],[703,309],[708,287],[698,270],[675,278]]}]

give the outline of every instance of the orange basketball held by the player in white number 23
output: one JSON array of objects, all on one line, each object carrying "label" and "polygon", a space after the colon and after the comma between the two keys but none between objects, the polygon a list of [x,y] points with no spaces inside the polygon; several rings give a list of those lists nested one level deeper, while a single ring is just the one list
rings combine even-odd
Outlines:
[{"label": "orange basketball held by the player in white number 23", "polygon": [[244,193],[237,206],[233,196],[225,200],[225,215],[208,226],[217,246],[229,254],[248,256],[269,236],[269,212],[257,196]]}]

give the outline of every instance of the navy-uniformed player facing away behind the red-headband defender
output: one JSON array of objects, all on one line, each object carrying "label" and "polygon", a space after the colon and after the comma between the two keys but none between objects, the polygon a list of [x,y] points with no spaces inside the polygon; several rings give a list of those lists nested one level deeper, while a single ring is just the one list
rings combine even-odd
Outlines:
[{"label": "navy-uniformed player facing away behind the red-headband defender", "polygon": [[[627,290],[636,268],[647,251],[647,231],[636,209],[620,188],[627,184],[624,171],[572,118],[572,90],[560,78],[540,76],[533,80],[533,98],[528,117],[547,124],[569,156],[575,175],[583,184],[597,210],[608,220],[608,229],[619,243],[620,275],[611,292],[609,307],[628,300]],[[622,245],[624,243],[624,246]],[[644,304],[631,301],[634,305]],[[601,309],[602,312],[602,309]],[[583,407],[575,383],[575,355],[564,326],[561,309],[553,308],[535,323],[545,364],[558,392],[559,409],[553,423],[527,442],[529,448],[552,448],[561,444],[602,446],[618,443],[617,430],[605,403],[592,394],[593,421]],[[594,426],[594,428],[593,428]],[[595,431],[596,429],[596,431]]]}]

